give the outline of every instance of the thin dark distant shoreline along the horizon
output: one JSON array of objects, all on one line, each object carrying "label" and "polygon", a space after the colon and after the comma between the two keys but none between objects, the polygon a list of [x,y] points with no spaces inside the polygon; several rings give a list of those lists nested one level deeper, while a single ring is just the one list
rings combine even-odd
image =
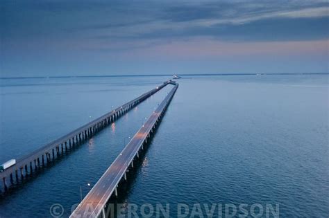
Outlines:
[{"label": "thin dark distant shoreline along the horizon", "polygon": [[[221,76],[221,75],[329,75],[329,73],[187,73],[180,76]],[[32,77],[0,77],[1,80],[9,79],[47,79],[47,78],[129,78],[149,76],[172,76],[171,74],[138,74],[138,75],[58,75],[58,76],[32,76]]]}]

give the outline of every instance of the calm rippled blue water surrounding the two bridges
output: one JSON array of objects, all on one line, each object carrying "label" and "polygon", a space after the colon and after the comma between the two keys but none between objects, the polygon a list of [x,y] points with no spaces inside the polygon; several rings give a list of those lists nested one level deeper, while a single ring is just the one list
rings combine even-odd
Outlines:
[{"label": "calm rippled blue water surrounding the two bridges", "polygon": [[[19,158],[168,78],[0,80],[0,162]],[[328,75],[194,76],[180,87],[119,203],[271,203],[328,217]],[[0,217],[63,217],[171,87],[0,199]],[[126,139],[125,139],[126,138]],[[140,211],[137,211],[140,214]],[[218,210],[214,212],[218,216]]]}]

